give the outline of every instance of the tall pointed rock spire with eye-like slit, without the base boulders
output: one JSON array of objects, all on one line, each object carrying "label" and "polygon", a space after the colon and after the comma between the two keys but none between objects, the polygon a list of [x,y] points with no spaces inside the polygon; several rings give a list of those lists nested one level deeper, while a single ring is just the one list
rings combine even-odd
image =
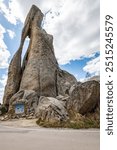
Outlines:
[{"label": "tall pointed rock spire with eye-like slit, without the base boulders", "polygon": [[[42,12],[33,5],[22,30],[20,47],[9,66],[3,98],[5,105],[10,104],[12,96],[18,91],[33,90],[38,97],[56,97],[59,94],[65,95],[76,83],[73,75],[59,68],[54,54],[53,37],[41,28],[42,20]],[[22,49],[27,36],[30,43],[21,65]]]}]

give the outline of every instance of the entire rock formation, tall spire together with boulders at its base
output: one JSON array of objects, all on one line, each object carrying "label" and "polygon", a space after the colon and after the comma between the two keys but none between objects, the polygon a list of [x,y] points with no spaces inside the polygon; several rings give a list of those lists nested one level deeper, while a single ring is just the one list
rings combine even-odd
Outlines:
[{"label": "entire rock formation, tall spire together with boulders at its base", "polygon": [[[42,20],[43,13],[33,5],[24,23],[19,49],[9,65],[3,98],[9,116],[10,112],[17,115],[19,104],[25,108],[21,116],[36,116],[49,122],[69,120],[70,109],[83,115],[99,110],[99,82],[77,82],[73,75],[59,68],[53,37],[42,29]],[[30,42],[21,62],[27,36]],[[15,115],[14,118],[18,117]]]}]

